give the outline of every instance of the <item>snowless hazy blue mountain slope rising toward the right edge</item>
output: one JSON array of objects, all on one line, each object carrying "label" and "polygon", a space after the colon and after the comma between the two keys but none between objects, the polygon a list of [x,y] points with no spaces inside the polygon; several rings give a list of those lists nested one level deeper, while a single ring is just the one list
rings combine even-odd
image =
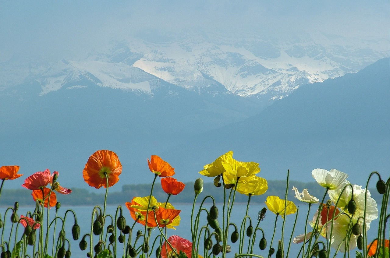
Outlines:
[{"label": "snowless hazy blue mountain slope rising toward the right edge", "polygon": [[172,155],[191,157],[188,166],[200,169],[233,150],[238,160],[260,163],[259,175],[268,179],[290,169],[293,180],[313,180],[315,168],[344,171],[357,184],[366,184],[374,170],[388,178],[389,64],[384,58],[355,74],[302,86],[258,115],[199,134]]}]

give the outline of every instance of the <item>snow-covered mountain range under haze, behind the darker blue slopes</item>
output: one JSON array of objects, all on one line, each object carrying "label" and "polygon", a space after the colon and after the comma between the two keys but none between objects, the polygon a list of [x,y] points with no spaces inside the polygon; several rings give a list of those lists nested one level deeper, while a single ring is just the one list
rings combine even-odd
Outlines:
[{"label": "snow-covered mountain range under haze, behind the darker blue slopes", "polygon": [[388,45],[388,39],[358,40],[320,33],[299,38],[139,36],[115,42],[85,60],[61,60],[44,72],[30,73],[25,81],[38,81],[41,95],[93,83],[152,96],[150,81],[159,79],[190,91],[230,92],[268,102],[289,95],[300,85],[357,72],[388,57]]}]

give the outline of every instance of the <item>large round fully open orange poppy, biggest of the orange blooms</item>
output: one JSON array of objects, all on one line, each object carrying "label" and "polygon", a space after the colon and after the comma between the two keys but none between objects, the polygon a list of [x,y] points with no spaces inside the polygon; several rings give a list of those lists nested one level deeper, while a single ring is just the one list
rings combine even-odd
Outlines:
[{"label": "large round fully open orange poppy, biggest of the orange blooms", "polygon": [[113,186],[119,180],[122,173],[122,164],[115,152],[110,150],[98,150],[92,154],[83,170],[84,181],[95,188]]}]

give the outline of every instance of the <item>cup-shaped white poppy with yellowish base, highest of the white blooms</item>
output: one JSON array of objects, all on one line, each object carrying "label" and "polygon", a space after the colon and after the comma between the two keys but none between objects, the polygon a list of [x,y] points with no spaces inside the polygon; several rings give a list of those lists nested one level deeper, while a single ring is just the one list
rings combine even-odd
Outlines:
[{"label": "cup-shaped white poppy with yellowish base, highest of the white blooms", "polygon": [[346,180],[348,175],[335,169],[328,171],[316,168],[312,171],[312,176],[320,186],[329,188],[329,190],[339,189],[348,183]]}]

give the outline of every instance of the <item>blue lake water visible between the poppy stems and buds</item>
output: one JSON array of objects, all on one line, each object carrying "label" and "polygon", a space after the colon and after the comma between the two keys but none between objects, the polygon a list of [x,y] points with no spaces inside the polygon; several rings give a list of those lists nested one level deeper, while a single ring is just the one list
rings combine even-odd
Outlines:
[{"label": "blue lake water visible between the poppy stems and buds", "polygon": [[[252,218],[252,225],[253,226],[255,226],[257,224],[257,213],[264,206],[265,205],[258,205],[258,204],[250,205],[248,215]],[[204,208],[206,208],[207,210],[209,209],[209,207],[210,207],[210,205],[204,206]],[[309,220],[312,219],[315,207],[316,206],[314,205],[312,208],[312,211],[310,211]],[[128,209],[126,208],[126,206],[123,206],[122,208],[123,208],[123,215],[126,217],[126,223],[129,226],[132,226],[134,221],[131,218]],[[168,236],[179,235],[185,239],[191,240],[190,217],[191,217],[192,205],[190,205],[190,204],[176,204],[175,208],[181,210],[181,214],[180,214],[181,223],[179,226],[176,227],[176,230],[168,229],[167,235]],[[76,207],[62,206],[60,208],[60,210],[58,210],[58,215],[63,217],[63,215],[67,209],[72,209],[72,210],[74,210],[74,212],[76,212],[77,221],[78,221],[78,224],[80,225],[80,228],[81,228],[81,230],[80,230],[80,239],[81,239],[81,237],[85,233],[90,232],[91,214],[92,214],[93,207],[91,207],[91,206],[76,206]],[[116,209],[117,209],[117,206],[110,206],[109,205],[106,208],[106,214],[112,214],[112,216],[115,216]],[[218,209],[220,210],[218,219],[221,222],[222,221],[222,212],[221,212],[222,205],[218,205]],[[305,230],[305,219],[307,216],[308,205],[301,204],[299,209],[300,209],[299,216],[298,216],[298,220],[296,223],[295,232],[293,233],[293,237],[303,233]],[[4,216],[5,208],[2,208],[0,210],[1,210],[2,216]],[[20,209],[18,210],[18,215],[19,216],[22,214],[25,215],[28,210],[30,210],[30,208],[20,207]],[[245,215],[245,211],[246,211],[246,204],[235,204],[233,207],[231,222],[236,223],[238,228],[241,226],[241,221],[242,221],[243,216]],[[50,215],[51,215],[50,217],[54,218],[54,214],[55,214],[55,209],[51,209],[50,210]],[[203,213],[203,216],[202,216],[203,219],[201,220],[201,223],[200,223],[201,225],[202,225],[202,222],[204,225],[206,225],[206,223],[207,223],[206,219],[205,219],[206,218],[205,214],[206,214],[206,212]],[[8,236],[7,232],[9,232],[10,226],[11,226],[11,223],[9,223],[9,215],[10,215],[10,212],[8,212],[8,215],[7,215],[8,221],[5,223],[5,230],[4,230],[4,235],[7,235],[7,236]],[[67,216],[69,216],[69,217],[67,217],[67,222],[66,222],[65,228],[66,228],[67,238],[69,239],[69,241],[71,243],[72,257],[87,257],[86,256],[87,251],[81,251],[79,249],[78,244],[79,244],[80,239],[78,241],[74,241],[73,238],[71,237],[71,227],[73,226],[73,216],[71,216],[71,214],[68,214]],[[291,237],[292,230],[293,230],[294,220],[295,220],[295,214],[286,216],[285,231],[284,231],[285,232],[285,235],[284,235],[285,252],[287,252],[287,245],[288,245],[288,242],[289,242],[289,239]],[[376,219],[375,221],[373,221],[371,223],[371,230],[367,231],[369,240],[375,238],[376,228],[378,227],[378,222],[379,222],[378,219]],[[109,223],[108,219],[106,219],[106,225],[107,225],[107,223]],[[256,237],[255,245],[254,245],[254,253],[255,254],[266,255],[268,253],[265,251],[268,250],[269,244],[271,243],[271,237],[272,237],[272,233],[273,233],[273,229],[274,229],[274,223],[275,223],[275,214],[267,211],[266,217],[264,218],[263,221],[261,221],[261,223],[259,224],[259,227],[261,227],[264,230],[268,246],[267,246],[267,249],[264,251],[261,251],[259,249],[259,240],[261,239],[261,231],[257,231],[257,237]],[[278,221],[277,221],[277,231],[275,233],[275,238],[273,241],[273,247],[275,249],[277,247],[278,240],[281,238],[282,223],[283,223],[283,219],[279,216]],[[246,225],[248,225],[248,223]],[[137,224],[135,229],[142,229],[142,227],[140,224]],[[308,226],[308,230],[310,230],[310,229],[311,229],[310,226]],[[59,226],[57,225],[56,234],[58,234],[58,231],[59,231]],[[233,228],[230,227],[229,232],[232,233],[232,231],[233,231]],[[22,229],[18,230],[18,232],[20,232],[20,233],[18,233],[18,237],[20,237],[21,233],[22,233]],[[133,236],[135,236],[135,232],[136,232],[136,230],[134,231]],[[153,233],[154,233],[154,236],[156,236],[158,234],[158,230],[154,229]],[[87,242],[89,242],[89,240],[87,240]],[[96,242],[97,242],[97,240],[94,240],[95,244],[96,244]],[[230,237],[229,237],[229,242],[230,242]],[[238,249],[238,242],[236,242],[235,244],[231,244],[231,246],[232,246],[232,253],[230,253],[230,255],[228,257],[234,256],[234,250]],[[300,247],[300,245],[291,244],[289,257],[293,258],[293,257],[296,257],[298,255],[298,252],[299,252],[298,246]],[[247,246],[246,246],[246,248],[247,248]],[[244,250],[246,250],[246,249],[244,249]],[[355,249],[355,250],[357,250],[357,249]],[[351,257],[355,257],[355,250],[351,251],[351,255],[352,255]],[[122,252],[119,252],[119,253],[122,253]],[[339,254],[338,256],[342,257],[341,254]],[[154,257],[154,255],[152,257]],[[273,256],[273,257],[275,257],[275,256]]]}]

